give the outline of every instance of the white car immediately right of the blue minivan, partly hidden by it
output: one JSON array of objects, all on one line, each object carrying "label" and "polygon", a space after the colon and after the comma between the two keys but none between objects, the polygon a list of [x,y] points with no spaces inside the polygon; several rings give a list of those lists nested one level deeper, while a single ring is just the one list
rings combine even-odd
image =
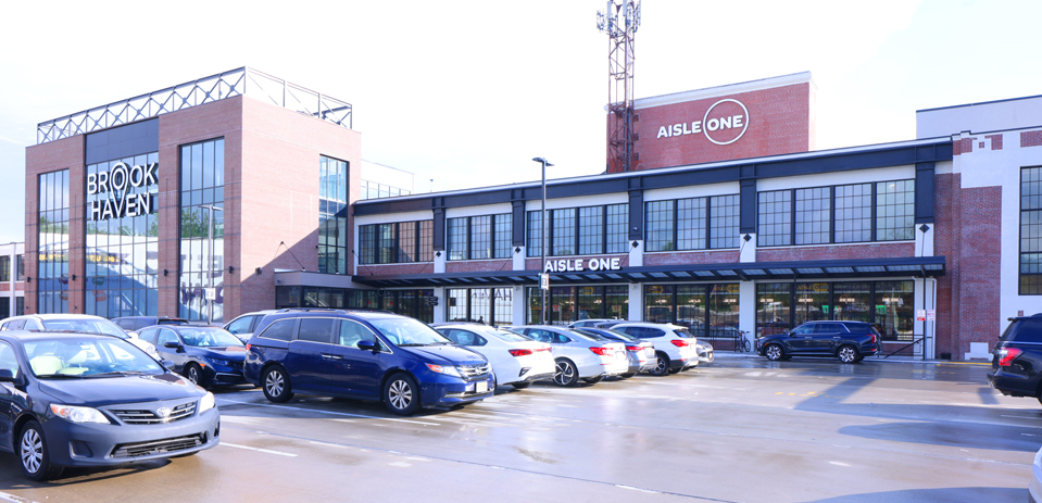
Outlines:
[{"label": "white car immediately right of the blue minivan, partly hidden by it", "polygon": [[519,334],[473,324],[444,324],[436,327],[452,342],[481,353],[495,375],[495,386],[523,389],[554,374],[550,344]]}]

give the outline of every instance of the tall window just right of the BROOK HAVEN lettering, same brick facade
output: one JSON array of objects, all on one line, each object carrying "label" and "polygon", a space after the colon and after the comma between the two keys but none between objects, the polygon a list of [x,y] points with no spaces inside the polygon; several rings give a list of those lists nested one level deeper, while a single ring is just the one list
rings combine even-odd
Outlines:
[{"label": "tall window just right of the BROOK HAVEN lettering, same brick facade", "polygon": [[[224,319],[224,139],[183,146],[180,176],[179,314],[192,322],[221,322]],[[114,316],[111,310],[109,316]]]}]

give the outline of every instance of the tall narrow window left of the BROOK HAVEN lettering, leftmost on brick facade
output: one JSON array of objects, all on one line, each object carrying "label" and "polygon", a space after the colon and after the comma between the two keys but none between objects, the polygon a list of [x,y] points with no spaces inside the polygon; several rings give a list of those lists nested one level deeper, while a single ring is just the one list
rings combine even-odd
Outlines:
[{"label": "tall narrow window left of the BROOK HAVEN lettering, leftmost on brick facade", "polygon": [[39,176],[38,313],[68,312],[68,169]]}]

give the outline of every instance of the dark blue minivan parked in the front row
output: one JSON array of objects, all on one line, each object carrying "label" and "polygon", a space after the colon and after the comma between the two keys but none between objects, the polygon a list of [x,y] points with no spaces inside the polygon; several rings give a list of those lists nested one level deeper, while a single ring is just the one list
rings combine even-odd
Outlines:
[{"label": "dark blue minivan parked in the front row", "polygon": [[387,313],[283,310],[247,344],[243,373],[272,402],[293,393],[382,401],[399,415],[491,397],[485,356],[416,319]]}]

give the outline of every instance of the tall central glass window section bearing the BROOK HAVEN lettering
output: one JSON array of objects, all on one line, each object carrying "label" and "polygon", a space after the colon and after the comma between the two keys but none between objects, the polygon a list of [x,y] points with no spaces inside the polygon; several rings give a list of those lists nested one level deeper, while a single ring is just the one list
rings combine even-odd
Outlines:
[{"label": "tall central glass window section bearing the BROOK HAVEN lettering", "polygon": [[[210,149],[200,146],[198,150],[196,158],[189,154],[188,161],[196,159],[202,166],[205,159],[208,173],[213,179],[213,146],[211,144]],[[155,315],[159,312],[158,162],[159,153],[153,152],[86,167],[88,187],[84,286],[87,290],[87,314],[111,318]],[[123,185],[124,173],[127,173],[127,183],[123,190],[120,190],[115,185]],[[102,187],[102,180],[105,179],[109,181],[108,187]],[[138,187],[135,187],[135,181]],[[212,184],[210,189],[212,190]],[[185,200],[183,203],[194,203],[196,208],[199,208],[212,204],[212,192],[204,193],[200,187],[198,191],[188,191],[187,198],[181,199]],[[210,198],[209,202],[203,202],[206,197]],[[130,200],[137,202],[137,209],[133,212],[125,208]],[[108,206],[115,209],[115,203],[120,202],[124,204],[122,212],[106,211]],[[95,209],[98,211],[95,212]],[[189,224],[198,227],[202,222]],[[203,237],[208,236],[206,228],[193,230],[201,231]]]}]

